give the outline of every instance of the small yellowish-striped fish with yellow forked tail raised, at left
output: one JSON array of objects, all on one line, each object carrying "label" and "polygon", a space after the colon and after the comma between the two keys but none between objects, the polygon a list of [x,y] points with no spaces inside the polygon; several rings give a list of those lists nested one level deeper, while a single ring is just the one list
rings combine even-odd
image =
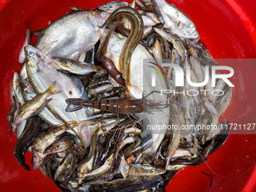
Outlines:
[{"label": "small yellowish-striped fish with yellow forked tail raised, at left", "polygon": [[37,114],[41,110],[41,108],[44,108],[44,106],[46,106],[47,103],[51,100],[47,99],[48,96],[53,96],[61,92],[59,90],[53,90],[55,84],[56,81],[53,82],[53,84],[51,84],[44,93],[38,93],[38,95],[35,96],[33,99],[24,103],[24,105],[20,108],[19,113],[15,117],[13,125],[14,130],[16,129],[17,124],[19,124],[21,121],[26,120],[27,118]]}]

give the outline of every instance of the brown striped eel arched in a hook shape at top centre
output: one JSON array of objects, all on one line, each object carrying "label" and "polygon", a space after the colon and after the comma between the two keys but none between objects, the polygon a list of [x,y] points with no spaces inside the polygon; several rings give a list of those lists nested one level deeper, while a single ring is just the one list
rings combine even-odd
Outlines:
[{"label": "brown striped eel arched in a hook shape at top centre", "polygon": [[105,27],[112,20],[117,17],[126,17],[131,23],[131,31],[125,44],[123,45],[122,53],[120,54],[120,72],[123,75],[123,79],[126,80],[126,84],[130,86],[130,60],[136,46],[143,35],[143,20],[142,16],[133,8],[122,7],[115,10],[108,20],[101,27]]}]

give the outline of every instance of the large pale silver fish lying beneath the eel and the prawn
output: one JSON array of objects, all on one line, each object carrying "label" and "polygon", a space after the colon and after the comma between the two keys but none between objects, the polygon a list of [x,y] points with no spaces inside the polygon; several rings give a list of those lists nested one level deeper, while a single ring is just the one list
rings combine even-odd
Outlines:
[{"label": "large pale silver fish lying beneath the eel and the prawn", "polygon": [[[119,56],[121,54],[123,44],[125,43],[126,38],[123,37],[123,39],[117,38],[115,35],[111,35],[111,38],[109,39],[108,43],[108,51],[107,54],[111,55],[111,60],[114,62],[114,66],[119,70]],[[156,84],[157,87],[151,87],[151,75],[144,75],[151,74],[151,69],[147,66],[145,66],[145,69],[143,69],[144,59],[150,59],[153,62],[154,57],[151,55],[151,53],[148,52],[148,50],[142,46],[141,44],[138,44],[136,49],[133,52],[133,55],[131,56],[131,66],[130,66],[130,74],[132,77],[130,79],[130,84],[132,84],[132,87],[130,88],[130,96],[132,99],[142,99],[142,93],[145,91],[145,94],[151,93],[153,90],[168,90],[166,81],[164,81],[160,75],[156,75]],[[150,64],[150,63],[147,63]],[[143,77],[144,76],[144,77]],[[145,84],[144,82],[145,81]],[[150,84],[150,85],[148,85]],[[143,86],[148,87],[146,90]],[[137,88],[139,87],[139,89]],[[160,94],[151,94],[149,96],[150,99],[154,101],[160,101],[167,99],[167,96],[160,96]],[[163,114],[164,112],[164,114]],[[144,125],[168,125],[169,124],[169,108],[164,108],[162,111],[154,111],[154,114],[136,114],[136,117],[138,119],[142,119],[146,115],[148,115],[144,120],[142,120]],[[166,130],[160,130],[154,132],[154,130],[144,130],[141,134],[143,142],[148,142],[148,147],[144,149],[144,155],[147,156],[149,159],[151,157],[153,158],[155,151],[157,151],[157,148],[160,146],[160,143],[163,141],[163,138],[166,134]],[[150,139],[151,138],[151,139]],[[148,140],[149,139],[149,140]]]}]

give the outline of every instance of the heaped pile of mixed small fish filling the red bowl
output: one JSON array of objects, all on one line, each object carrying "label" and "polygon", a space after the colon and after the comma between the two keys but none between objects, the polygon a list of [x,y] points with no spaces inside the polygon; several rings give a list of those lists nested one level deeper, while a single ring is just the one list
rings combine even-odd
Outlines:
[{"label": "heaped pile of mixed small fish filling the red bowl", "polygon": [[[218,125],[232,87],[222,79],[175,87],[174,69],[163,67],[166,79],[158,75],[157,87],[145,89],[153,66],[174,63],[199,83],[218,65],[190,18],[165,0],[71,9],[43,30],[27,23],[23,66],[10,85],[17,161],[30,171],[30,151],[32,169],[62,191],[165,191],[175,172],[204,163],[226,141],[228,133],[219,133],[227,121],[217,130],[181,126]],[[31,35],[38,35],[34,46]],[[224,94],[174,94],[192,89]],[[179,129],[145,129],[152,124]]]}]

